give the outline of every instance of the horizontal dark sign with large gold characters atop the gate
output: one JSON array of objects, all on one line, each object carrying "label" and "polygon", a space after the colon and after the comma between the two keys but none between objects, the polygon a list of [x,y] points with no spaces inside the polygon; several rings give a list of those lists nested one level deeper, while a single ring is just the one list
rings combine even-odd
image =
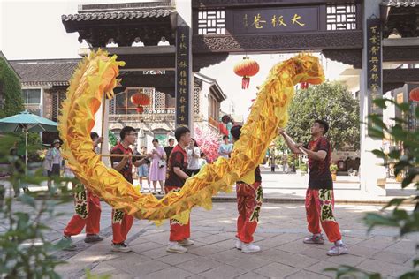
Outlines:
[{"label": "horizontal dark sign with large gold characters atop the gate", "polygon": [[234,11],[233,34],[316,31],[318,12],[315,7]]}]

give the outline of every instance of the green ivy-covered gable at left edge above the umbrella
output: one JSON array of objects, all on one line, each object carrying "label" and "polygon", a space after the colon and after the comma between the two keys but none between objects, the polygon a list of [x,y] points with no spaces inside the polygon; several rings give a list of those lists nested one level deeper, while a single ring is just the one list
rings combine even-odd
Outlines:
[{"label": "green ivy-covered gable at left edge above the umbrella", "polygon": [[0,118],[18,114],[24,109],[22,89],[16,73],[0,57],[0,97],[3,95],[3,108],[0,107]]}]

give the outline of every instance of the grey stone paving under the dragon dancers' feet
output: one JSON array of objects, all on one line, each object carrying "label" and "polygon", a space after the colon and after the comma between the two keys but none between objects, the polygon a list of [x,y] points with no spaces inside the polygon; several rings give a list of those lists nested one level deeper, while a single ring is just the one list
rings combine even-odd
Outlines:
[{"label": "grey stone paving under the dragon dancers' feet", "polygon": [[[191,239],[195,245],[189,253],[166,253],[168,223],[156,227],[143,220],[134,222],[128,236],[133,252],[112,253],[110,207],[102,205],[105,240],[91,245],[82,241],[84,235],[75,237],[77,251],[58,253],[68,262],[57,268],[64,278],[83,277],[86,268],[95,275],[112,278],[327,278],[333,274],[324,272],[324,268],[339,264],[378,271],[392,278],[412,267],[415,243],[419,241],[419,235],[395,238],[397,230],[391,228],[379,228],[367,235],[362,215],[380,206],[339,205],[336,215],[350,253],[329,257],[326,251],[330,244],[302,244],[302,238],[308,235],[302,204],[265,203],[255,232],[255,242],[262,252],[245,254],[233,248],[236,205],[221,202],[214,203],[211,211],[193,209]],[[72,215],[72,203],[57,209],[65,215],[47,221],[53,229],[48,234],[51,240],[61,237]]]}]

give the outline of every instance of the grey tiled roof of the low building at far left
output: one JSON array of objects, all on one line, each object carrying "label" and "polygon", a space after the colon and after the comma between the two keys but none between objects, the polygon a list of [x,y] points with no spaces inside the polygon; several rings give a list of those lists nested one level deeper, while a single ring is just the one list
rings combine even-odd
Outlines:
[{"label": "grey tiled roof of the low building at far left", "polygon": [[68,86],[80,59],[10,60],[23,86]]}]

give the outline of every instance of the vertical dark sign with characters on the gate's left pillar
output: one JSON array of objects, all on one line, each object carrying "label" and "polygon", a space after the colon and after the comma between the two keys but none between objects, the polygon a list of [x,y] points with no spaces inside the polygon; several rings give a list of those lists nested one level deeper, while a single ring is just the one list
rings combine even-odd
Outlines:
[{"label": "vertical dark sign with characters on the gate's left pillar", "polygon": [[189,26],[179,26],[176,32],[176,126],[189,125]]}]

